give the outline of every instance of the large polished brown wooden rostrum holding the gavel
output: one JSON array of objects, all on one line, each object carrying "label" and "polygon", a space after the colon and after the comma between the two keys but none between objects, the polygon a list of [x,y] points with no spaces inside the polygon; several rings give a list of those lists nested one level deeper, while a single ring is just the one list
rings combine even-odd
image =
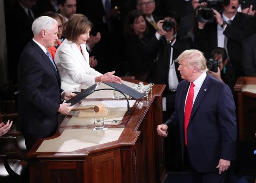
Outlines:
[{"label": "large polished brown wooden rostrum holding the gavel", "polygon": [[[131,79],[127,81],[139,82]],[[70,112],[53,137],[39,139],[29,151],[30,183],[163,182],[166,177],[163,138],[157,135],[156,128],[163,123],[164,89],[165,85],[154,85],[149,99],[136,100],[134,106],[131,106],[130,114],[126,112],[121,123],[105,125],[109,129],[122,129],[115,141],[71,152],[37,152],[47,139],[59,138],[67,130],[73,130],[75,133],[79,130],[93,132],[93,125],[67,126],[74,114]]]}]

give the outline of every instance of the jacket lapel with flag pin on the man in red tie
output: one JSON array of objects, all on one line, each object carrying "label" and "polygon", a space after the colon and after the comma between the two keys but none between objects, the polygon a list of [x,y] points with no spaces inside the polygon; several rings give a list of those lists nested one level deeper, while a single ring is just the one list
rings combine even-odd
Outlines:
[{"label": "jacket lapel with flag pin on the man in red tie", "polygon": [[198,92],[198,95],[195,99],[193,108],[192,108],[192,112],[190,115],[190,120],[192,119],[193,115],[195,114],[196,110],[198,109],[198,106],[200,105],[200,103],[202,102],[204,95],[209,91],[210,89],[210,81],[209,81],[209,75],[207,74],[207,77],[204,80],[204,83],[201,86],[201,89]]}]

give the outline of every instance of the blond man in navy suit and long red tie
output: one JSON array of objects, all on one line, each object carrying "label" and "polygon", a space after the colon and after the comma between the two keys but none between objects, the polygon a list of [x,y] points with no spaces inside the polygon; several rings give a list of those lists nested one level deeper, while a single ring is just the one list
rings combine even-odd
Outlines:
[{"label": "blond man in navy suit and long red tie", "polygon": [[194,183],[223,183],[236,152],[236,106],[230,88],[207,74],[201,51],[177,58],[183,79],[177,86],[175,112],[157,133],[166,137],[179,126],[182,155],[188,151]]}]

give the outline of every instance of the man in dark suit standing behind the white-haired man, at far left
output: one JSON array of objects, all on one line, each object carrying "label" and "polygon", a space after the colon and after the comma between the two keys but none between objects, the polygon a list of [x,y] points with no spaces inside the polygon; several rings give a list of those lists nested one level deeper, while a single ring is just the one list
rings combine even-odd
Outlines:
[{"label": "man in dark suit standing behind the white-haired man, at far left", "polygon": [[[36,0],[17,0],[6,14],[6,42],[9,78],[18,82],[17,67],[20,54],[33,38],[32,22],[38,16],[32,9]],[[18,31],[18,32],[17,32]]]}]

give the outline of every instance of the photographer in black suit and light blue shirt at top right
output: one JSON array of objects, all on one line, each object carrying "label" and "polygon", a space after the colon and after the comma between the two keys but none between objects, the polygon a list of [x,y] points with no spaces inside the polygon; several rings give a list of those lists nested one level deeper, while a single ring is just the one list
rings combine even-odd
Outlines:
[{"label": "photographer in black suit and light blue shirt at top right", "polygon": [[223,7],[222,13],[212,9],[215,22],[198,22],[195,48],[204,52],[206,57],[209,57],[212,49],[224,48],[238,77],[243,75],[242,41],[254,34],[255,20],[252,16],[237,11],[239,0],[225,0]]}]

